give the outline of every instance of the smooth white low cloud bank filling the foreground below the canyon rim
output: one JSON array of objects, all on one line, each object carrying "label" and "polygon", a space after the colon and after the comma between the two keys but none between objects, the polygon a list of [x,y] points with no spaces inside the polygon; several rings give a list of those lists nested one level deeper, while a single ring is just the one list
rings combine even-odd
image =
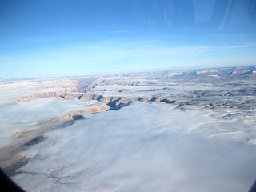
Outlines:
[{"label": "smooth white low cloud bank filling the foreground below the canyon rim", "polygon": [[22,154],[13,177],[27,191],[246,191],[256,178],[256,148],[206,137],[202,110],[132,103],[86,115]]}]

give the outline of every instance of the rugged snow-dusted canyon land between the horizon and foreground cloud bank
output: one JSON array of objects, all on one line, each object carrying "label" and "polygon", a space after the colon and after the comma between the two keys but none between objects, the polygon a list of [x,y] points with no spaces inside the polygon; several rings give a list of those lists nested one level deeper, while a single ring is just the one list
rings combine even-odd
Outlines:
[{"label": "rugged snow-dusted canyon land between the horizon and foreground cloud bank", "polygon": [[[132,110],[133,106],[139,106],[136,103],[149,105],[149,114],[150,105],[153,105],[163,107],[163,111],[174,111],[167,114],[185,113],[188,119],[192,115],[187,120],[191,121],[191,124],[186,124],[188,127],[180,126],[182,121],[170,123],[170,126],[180,127],[182,133],[191,132],[205,138],[255,146],[255,69],[255,66],[246,66],[2,80],[0,166],[14,178],[29,173],[26,166],[39,154],[26,154],[24,151],[50,142],[50,139],[54,139],[49,135],[52,131],[70,131],[68,129],[75,125],[90,121],[94,114],[117,111],[118,115],[118,110],[125,111],[123,108],[126,107]],[[192,118],[197,113],[206,118],[205,122]],[[128,116],[122,121],[129,122]],[[186,122],[185,116],[180,118]],[[198,122],[194,123],[193,119],[198,119]],[[97,121],[102,119],[98,118]],[[143,118],[138,121],[143,121]],[[163,120],[159,116],[154,123],[158,127],[163,121],[167,123],[171,119]],[[175,118],[172,121],[176,121]],[[164,127],[168,127],[167,124],[164,123]],[[52,143],[54,145],[58,141]]]}]

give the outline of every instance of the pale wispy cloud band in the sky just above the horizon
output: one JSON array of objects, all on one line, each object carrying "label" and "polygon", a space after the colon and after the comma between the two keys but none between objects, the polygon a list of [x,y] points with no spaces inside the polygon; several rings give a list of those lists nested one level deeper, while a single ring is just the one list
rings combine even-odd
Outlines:
[{"label": "pale wispy cloud band in the sky just above the horizon", "polygon": [[[50,75],[109,73],[118,71],[241,65],[255,62],[255,42],[230,45],[193,45],[181,42],[108,40],[75,43],[31,51],[27,54],[2,55],[6,70],[12,66]],[[23,73],[24,73],[23,72]]]}]

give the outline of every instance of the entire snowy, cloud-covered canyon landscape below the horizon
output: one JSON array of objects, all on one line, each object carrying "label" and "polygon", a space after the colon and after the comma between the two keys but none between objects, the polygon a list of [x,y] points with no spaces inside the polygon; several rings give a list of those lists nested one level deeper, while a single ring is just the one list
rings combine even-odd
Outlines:
[{"label": "entire snowy, cloud-covered canyon landscape below the horizon", "polygon": [[27,191],[246,191],[256,178],[256,66],[2,80],[0,101],[0,166]]}]

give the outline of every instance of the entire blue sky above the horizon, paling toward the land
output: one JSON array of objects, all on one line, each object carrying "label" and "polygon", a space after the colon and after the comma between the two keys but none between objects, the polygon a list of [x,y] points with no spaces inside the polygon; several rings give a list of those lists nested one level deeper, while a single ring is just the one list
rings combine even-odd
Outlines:
[{"label": "entire blue sky above the horizon, paling toward the land", "polygon": [[254,65],[255,9],[250,0],[2,0],[0,78]]}]

